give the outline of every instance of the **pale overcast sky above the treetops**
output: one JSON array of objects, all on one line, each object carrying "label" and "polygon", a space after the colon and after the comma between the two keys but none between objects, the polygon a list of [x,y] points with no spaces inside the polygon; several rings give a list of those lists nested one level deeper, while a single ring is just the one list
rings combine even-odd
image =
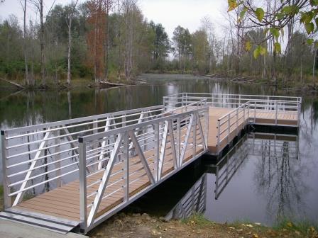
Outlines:
[{"label": "pale overcast sky above the treetops", "polygon": [[[54,0],[44,0],[45,10],[48,11]],[[84,0],[79,0],[83,2]],[[55,0],[55,4],[67,4],[70,0]],[[194,32],[200,26],[200,20],[204,16],[209,16],[214,26],[216,34],[221,21],[222,12],[226,9],[226,0],[139,0],[143,14],[148,20],[155,23],[162,23],[170,38],[173,30],[178,26],[189,28],[190,32]],[[6,0],[4,4],[0,4],[0,18],[4,20],[10,14],[18,16],[19,20],[23,20],[23,12],[19,0]],[[35,12],[28,13],[28,16],[34,18]],[[224,19],[224,18],[223,18]],[[220,34],[221,35],[221,34]]]}]

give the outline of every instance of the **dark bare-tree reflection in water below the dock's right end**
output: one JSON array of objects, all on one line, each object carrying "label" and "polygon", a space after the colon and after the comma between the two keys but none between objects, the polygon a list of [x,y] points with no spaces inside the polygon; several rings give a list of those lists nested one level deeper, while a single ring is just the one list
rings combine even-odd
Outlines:
[{"label": "dark bare-tree reflection in water below the dock's right end", "polygon": [[275,220],[305,217],[302,194],[308,188],[303,180],[307,167],[301,163],[295,140],[253,139],[253,155],[256,160],[254,179],[258,193],[267,197],[266,210]]}]

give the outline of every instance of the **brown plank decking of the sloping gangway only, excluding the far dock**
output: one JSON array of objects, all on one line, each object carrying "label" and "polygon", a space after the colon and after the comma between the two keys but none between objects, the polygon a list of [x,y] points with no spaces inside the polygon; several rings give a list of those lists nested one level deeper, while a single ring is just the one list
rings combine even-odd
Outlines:
[{"label": "brown plank decking of the sloping gangway only, excluding the far dock", "polygon": [[[182,133],[181,141],[185,139],[185,132]],[[193,133],[191,132],[191,136]],[[169,138],[169,137],[168,137]],[[202,143],[202,137],[200,137],[199,132],[197,131],[197,141]],[[192,146],[192,138],[189,140],[189,144],[187,146],[187,152],[185,153],[185,157],[183,162],[187,162],[192,158],[193,155],[193,146]],[[196,147],[196,154],[203,152],[202,146]],[[148,150],[144,153],[150,170],[154,170],[153,163],[153,149]],[[146,175],[146,171],[143,169],[143,164],[138,156],[129,159],[129,196],[133,196],[134,194],[142,191],[144,188],[150,186],[150,181],[148,176]],[[167,147],[165,149],[165,158],[163,165],[162,176],[169,174],[174,170],[174,163],[172,159],[172,148],[170,142],[167,143]],[[118,173],[117,173],[118,172]],[[98,174],[94,174],[93,176],[89,176],[87,178],[87,186],[90,183],[94,183],[99,179],[102,179],[103,171]],[[106,187],[104,192],[104,196],[107,196],[102,200],[101,205],[99,206],[99,210],[97,212],[97,217],[111,210],[124,201],[124,163],[119,162],[114,165],[114,169],[111,172],[111,177],[109,179],[109,184]],[[95,184],[87,188],[87,196],[89,193],[93,193],[97,191],[99,187],[99,183]],[[103,197],[104,197],[103,196]],[[87,198],[87,204],[92,203],[95,196],[90,196]],[[50,215],[53,217],[62,217],[67,220],[72,220],[79,222],[79,181],[73,181],[71,183],[67,183],[66,185],[55,188],[52,191],[47,193],[43,193],[35,198],[31,198],[29,200],[23,201],[22,203],[16,206],[17,209],[27,210],[29,212],[37,212],[45,215]],[[90,208],[87,209],[87,213],[89,213]]]}]

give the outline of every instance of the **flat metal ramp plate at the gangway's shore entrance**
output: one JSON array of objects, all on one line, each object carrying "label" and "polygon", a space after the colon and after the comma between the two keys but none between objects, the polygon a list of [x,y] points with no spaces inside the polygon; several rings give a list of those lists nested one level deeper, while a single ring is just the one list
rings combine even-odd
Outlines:
[{"label": "flat metal ramp plate at the gangway's shore entrance", "polygon": [[0,220],[1,219],[40,227],[62,234],[70,232],[79,225],[79,222],[72,220],[65,220],[60,217],[51,217],[37,212],[23,211],[14,208],[9,208],[4,212],[0,212]]}]

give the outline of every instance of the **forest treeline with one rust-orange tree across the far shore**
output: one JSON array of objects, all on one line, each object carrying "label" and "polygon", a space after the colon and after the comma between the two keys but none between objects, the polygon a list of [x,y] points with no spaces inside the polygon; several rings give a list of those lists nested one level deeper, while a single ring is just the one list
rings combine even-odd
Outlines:
[{"label": "forest treeline with one rust-orange tree across the far shore", "polygon": [[[270,1],[268,1],[270,3]],[[317,51],[297,26],[288,26],[281,54],[263,29],[248,28],[238,11],[227,13],[216,34],[207,17],[190,33],[176,26],[170,39],[148,21],[136,0],[73,0],[43,11],[43,0],[21,0],[23,23],[0,21],[0,77],[26,86],[72,84],[72,79],[131,81],[142,72],[253,77],[273,84],[314,80]],[[272,7],[273,8],[273,7]],[[32,13],[37,17],[28,18]],[[248,45],[249,42],[258,45]],[[259,45],[267,49],[255,59]],[[247,49],[248,48],[248,49]]]}]

